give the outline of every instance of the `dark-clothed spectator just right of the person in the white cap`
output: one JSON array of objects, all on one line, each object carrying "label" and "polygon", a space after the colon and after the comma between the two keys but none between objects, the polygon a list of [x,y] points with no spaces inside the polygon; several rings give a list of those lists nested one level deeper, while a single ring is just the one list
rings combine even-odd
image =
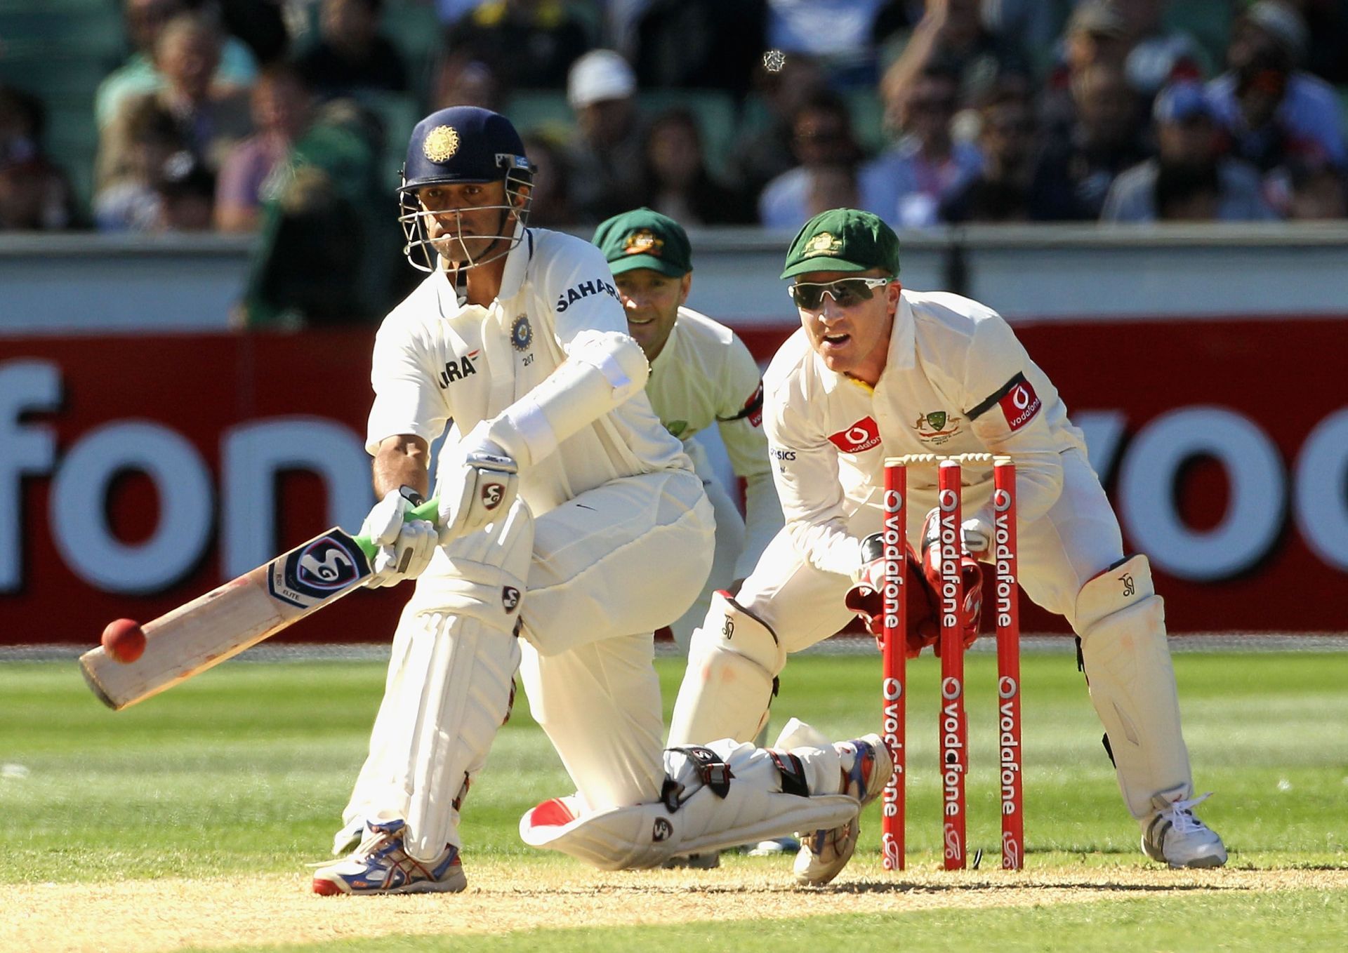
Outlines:
[{"label": "dark-clothed spectator just right of the person in the white cap", "polygon": [[670,109],[651,123],[646,135],[644,185],[643,206],[686,225],[754,221],[740,194],[706,170],[702,132],[689,109]]}]

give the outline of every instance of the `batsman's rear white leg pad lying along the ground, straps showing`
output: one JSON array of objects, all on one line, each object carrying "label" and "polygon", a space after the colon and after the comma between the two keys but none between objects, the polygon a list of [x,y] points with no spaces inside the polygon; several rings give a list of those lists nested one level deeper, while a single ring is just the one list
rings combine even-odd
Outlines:
[{"label": "batsman's rear white leg pad lying along the ground, straps showing", "polygon": [[[721,763],[717,770],[724,766],[727,783],[708,780],[710,759]],[[531,847],[613,871],[836,828],[859,810],[856,798],[837,793],[842,764],[829,744],[778,752],[725,739],[693,754],[666,751],[665,767],[670,780],[661,802],[584,814],[576,798],[555,798],[526,813],[519,834]]]}]

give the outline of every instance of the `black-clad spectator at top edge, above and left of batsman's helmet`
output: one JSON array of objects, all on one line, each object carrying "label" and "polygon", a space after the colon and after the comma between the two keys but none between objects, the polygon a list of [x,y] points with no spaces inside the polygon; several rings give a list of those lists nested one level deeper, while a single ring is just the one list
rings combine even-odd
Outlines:
[{"label": "black-clad spectator at top edge, above and left of batsman's helmet", "polygon": [[309,88],[324,100],[364,93],[406,93],[407,67],[379,31],[383,0],[322,0],[319,39],[297,59]]}]

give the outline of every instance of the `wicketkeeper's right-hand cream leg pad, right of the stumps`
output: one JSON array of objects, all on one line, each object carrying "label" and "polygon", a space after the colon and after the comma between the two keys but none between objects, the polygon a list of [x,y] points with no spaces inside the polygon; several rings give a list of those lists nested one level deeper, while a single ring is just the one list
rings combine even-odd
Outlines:
[{"label": "wicketkeeper's right-hand cream leg pad, right of the stumps", "polygon": [[1189,751],[1180,729],[1165,603],[1147,557],[1135,555],[1086,582],[1077,625],[1091,701],[1109,736],[1119,789],[1134,817],[1155,813],[1155,798],[1190,797]]}]

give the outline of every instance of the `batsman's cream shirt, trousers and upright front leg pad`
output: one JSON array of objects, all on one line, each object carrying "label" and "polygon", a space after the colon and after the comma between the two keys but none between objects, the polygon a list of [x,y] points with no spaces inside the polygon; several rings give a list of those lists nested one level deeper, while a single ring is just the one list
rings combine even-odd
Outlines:
[{"label": "batsman's cream shirt, trousers and upright front leg pad", "polygon": [[[580,239],[526,229],[489,307],[462,303],[433,272],[379,330],[367,449],[399,434],[430,443],[450,421],[468,434],[594,332],[625,338],[627,321],[607,262]],[[516,663],[582,803],[656,799],[665,779],[651,632],[692,604],[712,561],[712,510],[692,462],[638,390],[522,468],[519,497],[527,505],[511,519],[442,546],[418,578],[346,809],[357,825],[407,818],[425,856],[460,842],[458,806],[508,710]],[[484,534],[488,545],[474,542]],[[433,670],[449,665],[470,674]]]}]

